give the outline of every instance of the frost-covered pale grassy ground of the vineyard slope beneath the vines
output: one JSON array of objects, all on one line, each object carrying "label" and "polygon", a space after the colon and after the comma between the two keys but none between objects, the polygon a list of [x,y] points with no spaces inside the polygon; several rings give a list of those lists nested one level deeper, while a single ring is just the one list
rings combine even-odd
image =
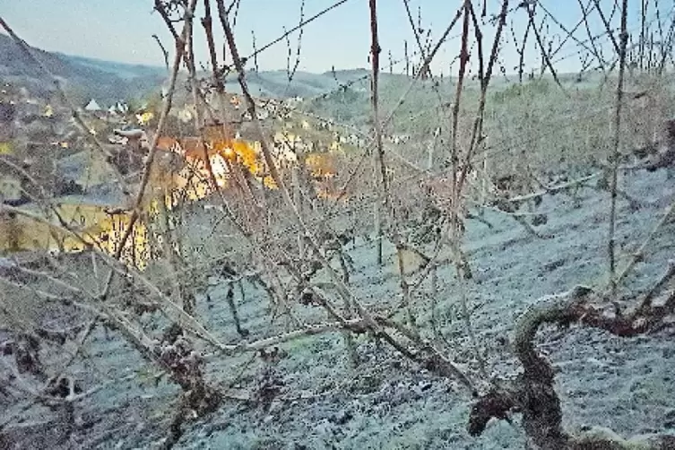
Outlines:
[{"label": "frost-covered pale grassy ground of the vineyard slope beneath the vines", "polygon": [[[663,209],[675,196],[675,179],[663,172],[625,178],[624,188],[641,201],[631,211],[619,201],[619,267],[645,239]],[[541,296],[567,290],[577,283],[601,286],[607,271],[606,193],[584,188],[576,200],[559,193],[546,196],[539,209],[549,221],[541,226],[547,239],[528,237],[515,221],[499,212],[486,212],[488,229],[470,222],[466,248],[472,261],[470,307],[478,340],[485,349],[489,371],[514,374],[517,367],[503,339],[511,335],[516,318]],[[389,266],[377,269],[368,244],[351,251],[356,264],[352,287],[371,307],[394,305],[398,279],[389,248]],[[646,251],[625,288],[644,291],[675,257],[675,225],[669,223]],[[463,321],[458,314],[454,271],[438,273],[437,321],[451,359],[471,362]],[[200,316],[222,341],[238,335],[222,287],[210,291],[212,302],[199,300]],[[242,325],[251,338],[277,333],[283,320],[272,325],[265,314],[267,299],[247,288],[237,299]],[[428,299],[417,305],[420,325],[428,329]],[[299,315],[321,320],[316,308],[302,307]],[[506,422],[493,422],[481,437],[466,432],[471,396],[452,380],[440,379],[412,365],[385,344],[358,339],[361,364],[351,368],[340,333],[290,342],[273,368],[283,383],[268,411],[253,402],[228,399],[210,417],[193,422],[175,448],[181,449],[516,449],[524,436]],[[540,333],[541,350],[558,369],[557,389],[568,427],[586,424],[613,428],[624,435],[675,430],[675,345],[672,334],[619,339],[607,333],[572,327],[567,332]],[[177,389],[165,381],[155,387],[152,370],[121,340],[99,333],[80,368],[89,385],[114,379],[86,401],[78,403],[79,428],[69,441],[59,442],[63,430],[54,413],[26,402],[7,405],[0,423],[5,428],[0,448],[152,448],[166,435]],[[238,379],[233,393],[255,386],[263,363],[251,355],[209,359],[214,380]],[[126,378],[125,378],[126,376]],[[235,396],[235,395],[233,395]],[[0,402],[4,397],[0,396]],[[16,446],[12,446],[13,441]]]}]

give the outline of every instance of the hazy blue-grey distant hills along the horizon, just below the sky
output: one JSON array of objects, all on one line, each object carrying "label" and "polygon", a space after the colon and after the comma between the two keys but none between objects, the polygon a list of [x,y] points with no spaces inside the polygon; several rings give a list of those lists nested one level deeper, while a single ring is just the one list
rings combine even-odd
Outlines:
[{"label": "hazy blue-grey distant hills along the horizon, just below the sky", "polygon": [[[37,48],[34,48],[34,51],[49,71],[65,82],[71,100],[81,106],[91,98],[96,99],[104,107],[117,100],[143,98],[150,92],[159,91],[161,84],[166,82],[166,69],[160,66],[117,63],[47,52]],[[208,78],[210,75],[203,74],[203,76]],[[339,69],[323,74],[299,71],[289,82],[288,74],[284,70],[249,71],[247,82],[251,93],[256,97],[283,99],[299,96],[313,99],[326,94],[327,98],[322,102],[328,101],[331,104],[335,102],[337,108],[349,109],[352,102],[358,100],[360,109],[362,103],[368,103],[368,76],[369,70],[366,68]],[[0,34],[0,80],[27,85],[30,92],[36,96],[53,89],[48,75],[42,73],[21,48],[4,34]],[[387,92],[396,92],[398,96],[399,91],[405,90],[410,80],[410,77],[403,74],[382,73],[381,92],[385,94],[384,97]],[[191,98],[191,94],[183,89],[185,81],[186,76],[182,74],[177,89],[178,104],[181,100]],[[341,86],[345,85],[349,86],[349,89],[341,90]],[[236,76],[228,77],[226,89],[240,93]]]}]

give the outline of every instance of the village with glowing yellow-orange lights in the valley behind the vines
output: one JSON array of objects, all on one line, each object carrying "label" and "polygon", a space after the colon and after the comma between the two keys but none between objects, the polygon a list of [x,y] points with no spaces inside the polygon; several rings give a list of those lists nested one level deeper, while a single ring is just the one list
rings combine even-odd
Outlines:
[{"label": "village with glowing yellow-orange lights in the valley behind the vines", "polygon": [[[302,159],[318,198],[342,197],[332,182],[336,160],[362,148],[365,138],[353,131],[341,130],[329,120],[303,115],[299,111],[302,102],[302,98],[265,99],[256,104],[257,119],[264,124],[273,143],[275,162],[281,169],[290,169]],[[156,103],[152,105],[147,101],[138,102],[135,107],[125,101],[101,106],[98,100],[91,99],[77,108],[77,114],[90,127],[88,132],[93,139],[113,156],[112,169],[118,170],[131,185],[139,181],[143,158],[150,150],[147,133],[157,123],[157,107]],[[251,116],[238,95],[229,94],[228,108],[238,129],[230,129],[229,136],[219,130],[210,137],[195,135],[194,107],[171,110],[168,131],[158,139],[157,151],[158,160],[172,160],[172,163],[160,164],[153,170],[151,191],[173,192],[169,197],[183,193],[190,201],[211,195],[212,186],[204,164],[207,153],[219,188],[226,188],[232,163],[241,164],[254,182],[275,188],[271,178],[263,174],[260,143],[253,140]],[[0,120],[4,124],[0,132],[0,154],[4,169],[9,169],[7,173],[11,174],[3,177],[0,186],[3,203],[29,208],[37,207],[39,199],[56,203],[62,219],[77,224],[78,229],[91,238],[91,244],[114,252],[117,235],[127,218],[124,214],[109,212],[125,210],[124,196],[114,187],[114,176],[103,160],[104,155],[91,149],[80,150],[91,147],[91,136],[86,136],[78,127],[68,105],[60,101],[56,93],[40,99],[31,96],[24,87],[5,83],[0,97]],[[403,141],[399,136],[389,138],[391,143]],[[145,232],[143,226],[136,228],[138,233]],[[57,233],[47,223],[30,223],[25,217],[12,214],[4,213],[0,218],[0,230],[0,252],[4,254],[83,248],[82,242],[55,238]],[[135,242],[143,247],[146,240],[137,238]],[[125,255],[130,253],[131,249]],[[133,253],[147,252],[137,249]],[[143,266],[144,262],[138,260],[134,264]]]}]

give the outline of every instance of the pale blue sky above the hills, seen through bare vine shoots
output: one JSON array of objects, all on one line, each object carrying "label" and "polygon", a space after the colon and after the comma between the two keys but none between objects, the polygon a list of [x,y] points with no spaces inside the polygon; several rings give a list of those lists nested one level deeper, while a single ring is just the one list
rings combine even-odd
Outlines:
[{"label": "pale blue sky above the hills, seen through bare vine shoots", "polygon": [[[487,1],[489,13],[497,13],[500,2]],[[584,4],[588,2],[582,1]],[[602,4],[606,5],[612,1],[601,0]],[[171,48],[171,45],[169,34],[159,14],[152,13],[152,3],[151,0],[0,0],[0,15],[34,47],[113,61],[161,65],[162,56],[151,35],[158,34],[168,48]],[[421,6],[422,26],[430,27],[433,38],[437,39],[462,0],[411,0],[410,3],[415,16],[418,6]],[[512,5],[516,3],[516,0],[510,2]],[[665,4],[670,2],[662,3],[665,8]],[[333,4],[333,0],[306,0],[305,16],[309,17],[330,4]],[[479,6],[482,1],[477,0],[474,4]],[[568,29],[572,29],[581,17],[579,4],[575,0],[541,0],[541,4],[554,13]],[[561,6],[562,4],[564,6]],[[630,0],[630,4],[630,26],[635,30],[639,2]],[[255,30],[258,46],[261,46],[279,37],[284,26],[291,28],[297,25],[299,8],[300,0],[241,0],[236,28],[241,53],[247,55],[252,49],[251,30]],[[389,50],[394,60],[398,60],[403,56],[404,40],[408,40],[411,50],[416,48],[416,44],[402,0],[379,0],[378,8],[381,46],[384,48],[382,65],[388,65]],[[201,15],[199,10],[198,16]],[[593,14],[593,31],[600,33],[601,24],[596,16]],[[514,21],[516,35],[522,39],[527,20],[526,13],[519,10],[509,16],[509,21],[511,20]],[[614,23],[618,26],[618,14]],[[457,35],[461,30],[460,25],[461,23],[458,23],[455,26],[451,36]],[[214,22],[214,27],[220,29],[217,21]],[[489,26],[486,29],[486,47],[491,45],[493,35],[490,29]],[[198,22],[195,30],[200,38],[197,40],[197,57],[205,62],[207,54],[205,45],[200,45],[203,42],[201,40],[203,33]],[[553,22],[550,22],[549,30],[550,36],[558,33],[564,37],[564,33]],[[579,39],[587,39],[583,26],[579,28],[576,36]],[[517,64],[517,59],[515,47],[510,42],[510,30],[507,30],[506,37],[509,42],[505,44],[502,55],[506,69],[511,72]],[[222,42],[221,33],[218,33],[217,38]],[[336,68],[368,66],[369,39],[368,0],[349,0],[306,26],[299,69],[324,72],[330,70],[332,65]],[[295,46],[297,35],[291,35],[290,40]],[[606,39],[603,41],[606,44]],[[579,58],[574,56],[576,49],[576,44],[570,41],[567,47],[560,51],[558,56],[567,58],[558,62],[559,71],[575,70],[579,65]],[[443,70],[448,74],[449,62],[458,51],[459,39],[451,39],[438,54],[436,64],[432,66],[435,72]],[[286,55],[287,48],[285,43],[281,42],[259,56],[260,68],[283,69],[286,66]],[[294,48],[293,55],[295,55]],[[535,48],[532,47],[528,51],[527,61],[529,65],[539,65]],[[397,65],[394,72],[402,72],[402,68],[403,65]]]}]

